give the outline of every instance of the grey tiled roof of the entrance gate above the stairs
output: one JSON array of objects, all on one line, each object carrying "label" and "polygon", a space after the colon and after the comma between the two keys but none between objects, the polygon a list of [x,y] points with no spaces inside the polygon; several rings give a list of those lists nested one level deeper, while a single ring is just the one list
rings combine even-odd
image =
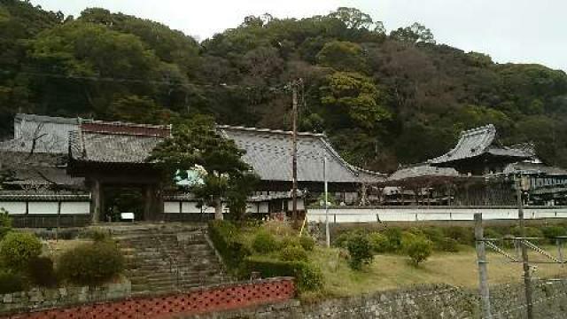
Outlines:
[{"label": "grey tiled roof of the entrance gate above the stairs", "polygon": [[170,136],[171,127],[88,121],[70,138],[73,159],[102,163],[144,163]]}]

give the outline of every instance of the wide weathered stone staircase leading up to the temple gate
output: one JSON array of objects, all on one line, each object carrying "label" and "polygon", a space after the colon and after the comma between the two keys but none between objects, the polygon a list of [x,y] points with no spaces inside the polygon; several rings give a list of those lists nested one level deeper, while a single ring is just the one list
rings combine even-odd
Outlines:
[{"label": "wide weathered stone staircase leading up to the temple gate", "polygon": [[182,292],[230,281],[206,237],[206,226],[134,224],[108,228],[127,259],[135,295]]}]

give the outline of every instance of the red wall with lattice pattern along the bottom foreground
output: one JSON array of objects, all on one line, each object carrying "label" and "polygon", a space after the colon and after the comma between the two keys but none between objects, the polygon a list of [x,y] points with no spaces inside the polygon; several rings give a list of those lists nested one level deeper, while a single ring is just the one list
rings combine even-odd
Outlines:
[{"label": "red wall with lattice pattern along the bottom foreground", "polygon": [[292,278],[274,278],[247,284],[215,286],[161,297],[52,309],[8,318],[158,318],[231,310],[290,300],[295,294]]}]

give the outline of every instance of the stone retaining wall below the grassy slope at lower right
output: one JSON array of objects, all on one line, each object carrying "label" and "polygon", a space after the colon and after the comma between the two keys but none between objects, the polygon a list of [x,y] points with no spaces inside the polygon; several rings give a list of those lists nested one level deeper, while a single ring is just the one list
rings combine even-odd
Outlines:
[{"label": "stone retaining wall below the grassy slope at lower right", "polygon": [[[493,319],[524,319],[524,286],[506,284],[491,290]],[[567,317],[567,281],[533,284],[535,319]],[[478,292],[447,285],[426,285],[406,291],[375,292],[350,298],[323,300],[313,304],[298,300],[185,319],[448,319],[480,318]]]}]

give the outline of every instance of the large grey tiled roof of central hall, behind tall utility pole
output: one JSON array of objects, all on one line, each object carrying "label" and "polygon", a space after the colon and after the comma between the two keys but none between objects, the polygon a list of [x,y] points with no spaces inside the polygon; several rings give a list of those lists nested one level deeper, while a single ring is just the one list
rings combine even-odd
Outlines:
[{"label": "large grey tiled roof of central hall, behind tall utility pole", "polygon": [[[218,126],[221,134],[245,150],[243,159],[265,181],[291,181],[291,132],[261,128]],[[323,159],[327,158],[327,180],[330,183],[360,183],[361,175],[381,181],[382,175],[346,163],[322,134],[299,133],[298,180],[322,182]]]}]

